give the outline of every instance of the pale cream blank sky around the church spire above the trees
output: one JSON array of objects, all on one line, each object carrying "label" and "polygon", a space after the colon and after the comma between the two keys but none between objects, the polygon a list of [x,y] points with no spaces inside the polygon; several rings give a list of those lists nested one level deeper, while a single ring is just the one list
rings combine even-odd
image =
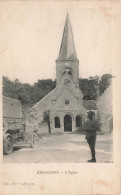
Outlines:
[{"label": "pale cream blank sky around the church spire above the trees", "polygon": [[112,74],[117,8],[88,1],[5,2],[0,7],[2,75],[33,84],[56,78],[65,19],[69,13],[79,77]]}]

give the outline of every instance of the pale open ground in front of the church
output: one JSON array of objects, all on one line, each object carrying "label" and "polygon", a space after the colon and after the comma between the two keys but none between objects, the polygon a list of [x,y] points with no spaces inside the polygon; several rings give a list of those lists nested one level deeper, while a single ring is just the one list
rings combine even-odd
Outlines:
[{"label": "pale open ground in front of the church", "polygon": [[[112,135],[97,135],[96,159],[99,163],[113,162]],[[4,155],[4,163],[86,163],[91,158],[85,135],[64,133],[42,135],[34,148],[15,147]]]}]

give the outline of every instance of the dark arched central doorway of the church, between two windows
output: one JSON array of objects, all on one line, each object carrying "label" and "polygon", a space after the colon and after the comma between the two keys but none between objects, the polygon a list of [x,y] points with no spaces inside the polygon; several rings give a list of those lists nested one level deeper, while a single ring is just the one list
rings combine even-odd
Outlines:
[{"label": "dark arched central doorway of the church, between two windows", "polygon": [[64,131],[72,131],[72,118],[69,114],[64,117]]}]

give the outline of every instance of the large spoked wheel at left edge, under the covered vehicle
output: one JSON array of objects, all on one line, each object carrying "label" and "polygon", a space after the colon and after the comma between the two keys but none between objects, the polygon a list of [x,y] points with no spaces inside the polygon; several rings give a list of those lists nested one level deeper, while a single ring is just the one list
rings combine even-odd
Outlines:
[{"label": "large spoked wheel at left edge, under the covered vehicle", "polygon": [[7,136],[6,141],[3,141],[3,153],[8,155],[13,152],[13,141],[11,136]]}]

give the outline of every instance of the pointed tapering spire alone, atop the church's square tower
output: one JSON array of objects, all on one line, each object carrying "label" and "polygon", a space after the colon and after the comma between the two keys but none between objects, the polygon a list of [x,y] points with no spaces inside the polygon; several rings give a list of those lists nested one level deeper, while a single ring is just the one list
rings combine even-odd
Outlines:
[{"label": "pointed tapering spire alone, atop the church's square tower", "polygon": [[61,42],[60,52],[57,60],[76,60],[76,50],[74,46],[73,32],[71,22],[67,13],[63,38]]}]

